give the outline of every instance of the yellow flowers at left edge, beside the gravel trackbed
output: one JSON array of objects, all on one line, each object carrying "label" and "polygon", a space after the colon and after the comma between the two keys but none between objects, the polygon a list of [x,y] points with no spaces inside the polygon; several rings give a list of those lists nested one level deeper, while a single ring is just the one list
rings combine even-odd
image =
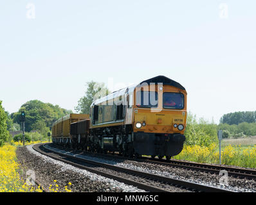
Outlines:
[{"label": "yellow flowers at left edge, beside the gravel trackbed", "polygon": [[[33,142],[33,143],[42,143]],[[32,144],[26,143],[26,145]],[[42,192],[41,186],[28,186],[19,175],[19,163],[16,158],[16,148],[19,145],[23,145],[22,142],[6,143],[3,147],[0,147],[0,192]],[[49,185],[48,190],[50,192],[59,192],[59,185],[54,181],[55,185]],[[71,183],[65,186],[66,192],[71,192]]]}]

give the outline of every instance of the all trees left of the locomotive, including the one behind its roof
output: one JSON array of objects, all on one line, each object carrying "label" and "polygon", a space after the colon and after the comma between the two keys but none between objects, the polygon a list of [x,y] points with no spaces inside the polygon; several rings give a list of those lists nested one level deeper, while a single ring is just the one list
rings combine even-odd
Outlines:
[{"label": "all trees left of the locomotive, including the one behind its roof", "polygon": [[[86,95],[79,99],[75,110],[80,113],[89,113],[91,103],[109,93],[110,91],[104,83],[87,82]],[[21,111],[25,111],[25,138],[27,141],[43,140],[47,137],[53,122],[73,112],[60,108],[59,105],[32,100],[21,105],[17,112],[10,114],[5,111],[2,101],[0,101],[0,147],[6,141],[23,139],[22,134],[15,135],[14,138],[10,135],[10,132],[21,130]]]}]

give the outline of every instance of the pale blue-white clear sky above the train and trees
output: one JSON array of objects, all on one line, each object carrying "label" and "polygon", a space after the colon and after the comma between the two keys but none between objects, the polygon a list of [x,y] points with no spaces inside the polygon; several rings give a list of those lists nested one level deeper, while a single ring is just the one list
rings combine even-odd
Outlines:
[{"label": "pale blue-white clear sky above the train and trees", "polygon": [[197,117],[255,111],[255,11],[235,0],[0,1],[0,100],[10,113],[32,99],[75,111],[87,81],[118,89],[163,75]]}]

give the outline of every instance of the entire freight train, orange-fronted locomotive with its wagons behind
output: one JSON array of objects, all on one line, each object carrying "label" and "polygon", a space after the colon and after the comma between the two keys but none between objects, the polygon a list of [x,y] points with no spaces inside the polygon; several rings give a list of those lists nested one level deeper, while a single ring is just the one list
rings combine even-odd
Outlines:
[{"label": "entire freight train, orange-fronted locomotive with its wagons behind", "polygon": [[89,115],[69,114],[52,127],[53,143],[91,152],[170,159],[185,142],[187,92],[165,76],[93,101]]}]

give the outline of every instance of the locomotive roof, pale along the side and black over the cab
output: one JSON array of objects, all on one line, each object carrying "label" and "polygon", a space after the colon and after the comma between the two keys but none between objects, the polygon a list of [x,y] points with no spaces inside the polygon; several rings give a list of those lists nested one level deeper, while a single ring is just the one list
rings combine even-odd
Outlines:
[{"label": "locomotive roof, pale along the side and black over the cab", "polygon": [[145,81],[142,81],[141,83],[139,84],[134,84],[134,85],[131,85],[131,86],[127,86],[125,88],[122,88],[120,90],[117,90],[117,91],[114,91],[113,93],[109,94],[109,95],[106,95],[105,97],[102,97],[100,99],[97,99],[96,101],[94,101],[91,106],[93,106],[93,104],[99,104],[101,102],[105,102],[109,99],[114,99],[116,97],[119,97],[119,96],[122,96],[125,94],[125,92],[127,93],[131,93],[134,91],[134,89],[138,86],[141,86],[142,83],[147,83],[147,84],[150,84],[150,83],[163,83],[163,85],[170,85],[170,86],[174,86],[176,88],[179,88],[181,90],[185,90],[185,88],[180,85],[178,82],[170,79],[170,78],[167,78],[165,76],[156,76],[154,78],[150,78],[150,79],[147,79]]}]

